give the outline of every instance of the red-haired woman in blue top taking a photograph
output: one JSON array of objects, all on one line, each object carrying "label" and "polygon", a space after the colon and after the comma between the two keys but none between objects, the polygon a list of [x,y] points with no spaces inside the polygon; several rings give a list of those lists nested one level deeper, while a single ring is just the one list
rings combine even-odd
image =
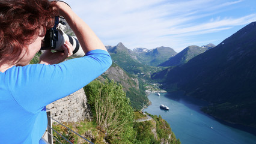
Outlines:
[{"label": "red-haired woman in blue top taking a photograph", "polygon": [[[40,50],[54,16],[64,16],[86,55]],[[46,105],[72,94],[106,71],[112,61],[94,32],[64,2],[0,0],[0,143],[39,143],[47,127]],[[64,61],[64,62],[62,62]]]}]

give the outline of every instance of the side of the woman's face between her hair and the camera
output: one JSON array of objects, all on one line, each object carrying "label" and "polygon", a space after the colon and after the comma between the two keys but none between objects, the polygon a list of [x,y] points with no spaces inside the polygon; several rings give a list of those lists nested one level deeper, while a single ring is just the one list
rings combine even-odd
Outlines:
[{"label": "side of the woman's face between her hair and the camera", "polygon": [[41,49],[41,41],[44,37],[37,36],[35,41],[28,45],[28,52],[25,53],[25,55],[21,55],[22,58],[19,62],[17,62],[17,65],[19,66],[25,66],[28,65],[32,58],[34,58],[35,54]]}]

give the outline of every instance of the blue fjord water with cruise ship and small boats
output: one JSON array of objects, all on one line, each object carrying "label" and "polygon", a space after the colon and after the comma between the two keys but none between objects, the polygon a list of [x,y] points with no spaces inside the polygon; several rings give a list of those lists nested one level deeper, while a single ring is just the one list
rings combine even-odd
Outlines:
[{"label": "blue fjord water with cruise ship and small boats", "polygon": [[[256,136],[243,130],[222,124],[209,115],[201,112],[206,106],[204,101],[183,95],[183,92],[155,93],[148,95],[151,105],[144,112],[152,115],[161,115],[177,139],[183,144],[193,143],[256,143]],[[159,108],[160,104],[169,107],[169,110]]]}]

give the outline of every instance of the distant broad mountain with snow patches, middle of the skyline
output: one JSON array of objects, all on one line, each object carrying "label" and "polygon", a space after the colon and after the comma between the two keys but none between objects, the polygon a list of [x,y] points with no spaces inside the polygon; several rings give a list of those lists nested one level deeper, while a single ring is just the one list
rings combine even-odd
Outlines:
[{"label": "distant broad mountain with snow patches, middle of the skyline", "polygon": [[138,54],[138,60],[142,64],[150,66],[157,66],[177,54],[177,52],[175,52],[171,47],[163,46],[151,50],[145,48],[136,48],[133,49],[133,52]]}]

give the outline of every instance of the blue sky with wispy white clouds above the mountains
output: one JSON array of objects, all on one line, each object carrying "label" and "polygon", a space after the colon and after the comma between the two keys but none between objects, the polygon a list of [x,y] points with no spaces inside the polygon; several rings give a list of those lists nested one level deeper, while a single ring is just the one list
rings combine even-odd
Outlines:
[{"label": "blue sky with wispy white clouds above the mountains", "polygon": [[[65,0],[64,0],[65,1]],[[66,0],[103,44],[128,49],[218,45],[256,21],[256,0]]]}]

